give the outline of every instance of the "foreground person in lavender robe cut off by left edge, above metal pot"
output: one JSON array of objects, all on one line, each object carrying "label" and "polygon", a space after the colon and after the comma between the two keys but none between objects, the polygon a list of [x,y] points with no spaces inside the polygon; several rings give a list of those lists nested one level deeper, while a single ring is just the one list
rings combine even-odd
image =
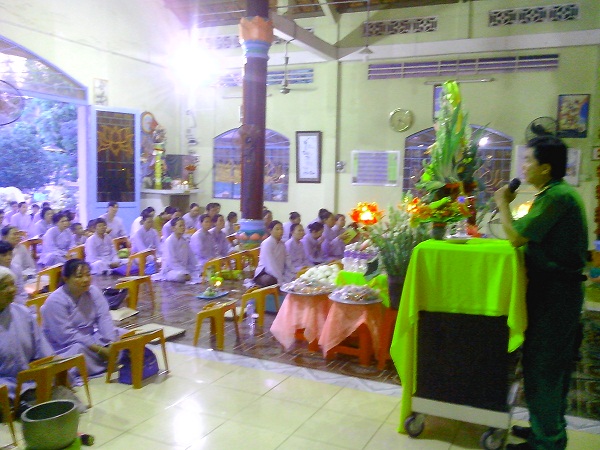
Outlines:
[{"label": "foreground person in lavender robe cut off by left edge, above metal pot", "polygon": [[[0,384],[8,387],[11,398],[15,396],[19,372],[28,369],[30,362],[53,354],[35,316],[25,306],[13,303],[14,280],[9,269],[0,267]],[[23,394],[34,388],[33,382],[24,383],[23,398],[27,399]]]}]

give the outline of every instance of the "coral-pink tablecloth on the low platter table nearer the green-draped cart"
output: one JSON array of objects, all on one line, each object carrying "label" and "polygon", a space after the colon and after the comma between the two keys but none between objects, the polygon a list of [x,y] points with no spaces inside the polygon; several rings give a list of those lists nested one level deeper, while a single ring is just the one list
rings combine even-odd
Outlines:
[{"label": "coral-pink tablecloth on the low platter table nearer the green-draped cart", "polygon": [[371,332],[373,351],[379,349],[379,327],[383,318],[381,303],[370,305],[338,303],[330,300],[331,308],[321,331],[319,345],[323,355],[350,336],[363,323]]}]

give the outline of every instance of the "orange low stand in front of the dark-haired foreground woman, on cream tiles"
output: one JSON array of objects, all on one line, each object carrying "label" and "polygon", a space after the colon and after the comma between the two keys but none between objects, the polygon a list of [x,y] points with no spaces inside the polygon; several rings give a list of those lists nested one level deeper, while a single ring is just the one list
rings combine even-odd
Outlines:
[{"label": "orange low stand in front of the dark-haired foreground woman, on cream tiles", "polygon": [[162,373],[169,372],[169,361],[167,360],[167,350],[165,348],[165,334],[162,328],[154,331],[148,331],[145,333],[139,333],[134,335],[123,335],[121,339],[113,342],[108,347],[108,365],[106,368],[106,382],[110,383],[110,378],[113,372],[117,369],[117,361],[119,359],[119,353],[122,350],[129,350],[129,356],[131,357],[131,381],[134,389],[140,389],[142,387],[142,375],[144,367],[144,349],[146,344],[158,339],[162,347],[163,360],[165,363],[165,370]]}]

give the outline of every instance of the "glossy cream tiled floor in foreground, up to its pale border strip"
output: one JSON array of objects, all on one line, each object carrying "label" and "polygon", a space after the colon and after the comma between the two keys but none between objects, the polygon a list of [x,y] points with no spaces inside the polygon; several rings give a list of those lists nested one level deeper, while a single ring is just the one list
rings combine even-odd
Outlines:
[{"label": "glossy cream tiled floor in foreground, up to its pale border strip", "polygon": [[[140,390],[91,381],[94,406],[81,416],[79,431],[94,436],[95,448],[476,449],[486,430],[428,417],[423,434],[412,439],[397,433],[399,387],[168,345],[171,373]],[[600,435],[590,434],[600,432],[597,422],[577,426],[583,431],[569,431],[569,450],[600,448]],[[2,426],[0,445],[8,442]]]}]

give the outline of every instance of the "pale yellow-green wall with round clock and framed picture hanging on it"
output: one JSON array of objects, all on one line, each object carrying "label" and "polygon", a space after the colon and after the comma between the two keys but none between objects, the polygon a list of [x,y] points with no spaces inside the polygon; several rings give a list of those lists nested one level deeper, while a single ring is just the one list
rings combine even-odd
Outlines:
[{"label": "pale yellow-green wall with round clock and framed picture hanging on it", "polygon": [[[555,4],[537,0],[536,5]],[[525,36],[535,33],[565,33],[600,29],[599,4],[596,0],[580,0],[582,19],[571,22],[515,25],[490,28],[487,11],[496,8],[531,6],[525,0],[485,0],[455,5],[405,8],[374,12],[371,20],[436,15],[439,31],[404,34],[373,39],[372,45],[410,44],[459,39],[503,36]],[[195,115],[194,135],[199,145],[194,150],[200,157],[196,179],[203,193],[193,200],[201,204],[211,201],[212,140],[215,136],[240,125],[241,99],[223,99],[223,94],[240,94],[240,89],[203,87],[193,93],[182,93],[167,69],[168,56],[186,33],[160,0],[0,0],[0,34],[46,58],[66,73],[91,87],[94,78],[109,81],[112,107],[152,111],[167,128],[167,151],[185,153],[180,136],[185,133],[185,110]],[[339,46],[364,44],[360,35],[366,13],[344,14],[338,24],[330,19],[302,19],[301,26],[311,27],[322,39]],[[202,30],[202,35],[236,34],[237,26]],[[408,44],[408,45],[407,45]],[[417,47],[415,47],[416,49]],[[274,46],[272,53],[283,52]],[[299,51],[290,46],[290,54]],[[415,50],[417,52],[417,50]],[[452,57],[489,57],[558,53],[560,68],[554,72],[493,74],[492,83],[464,84],[465,108],[472,123],[487,124],[523,142],[523,130],[535,117],[556,116],[557,96],[569,93],[591,93],[592,114],[590,136],[573,139],[569,145],[583,151],[581,191],[585,196],[590,223],[596,207],[597,163],[590,161],[591,148],[600,146],[598,134],[599,108],[597,85],[600,61],[599,46],[539,49],[519,52],[440,55],[411,60],[438,60]],[[240,55],[241,49],[227,50],[224,56]],[[390,59],[376,62],[400,62]],[[315,73],[313,91],[281,95],[269,87],[267,127],[290,139],[290,201],[268,203],[275,217],[285,220],[291,210],[298,210],[306,221],[315,217],[320,207],[347,213],[358,201],[378,201],[382,205],[395,202],[400,188],[352,186],[350,153],[352,150],[400,150],[409,134],[431,126],[432,87],[425,79],[367,80],[369,62],[336,61],[293,65],[312,67]],[[270,70],[277,67],[271,66]],[[341,81],[340,81],[341,80]],[[91,90],[91,89],[90,89]],[[91,92],[90,92],[91,97]],[[407,131],[396,133],[387,125],[394,108],[411,109],[415,123]],[[295,183],[295,133],[323,132],[323,168],[320,184]],[[592,138],[592,136],[595,136]],[[346,161],[347,170],[336,174],[337,159]],[[222,200],[223,211],[239,210],[239,201]],[[593,229],[593,227],[591,227]]]}]

